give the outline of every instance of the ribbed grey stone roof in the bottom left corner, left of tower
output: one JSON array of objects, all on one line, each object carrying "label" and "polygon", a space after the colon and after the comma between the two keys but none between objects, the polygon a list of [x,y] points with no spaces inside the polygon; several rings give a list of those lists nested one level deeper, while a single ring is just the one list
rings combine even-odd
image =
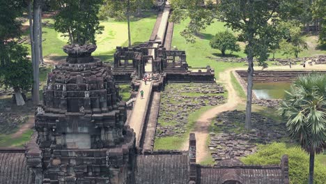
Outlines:
[{"label": "ribbed grey stone roof in the bottom left corner, left of tower", "polygon": [[26,166],[24,149],[0,149],[0,183],[31,184],[33,176]]}]

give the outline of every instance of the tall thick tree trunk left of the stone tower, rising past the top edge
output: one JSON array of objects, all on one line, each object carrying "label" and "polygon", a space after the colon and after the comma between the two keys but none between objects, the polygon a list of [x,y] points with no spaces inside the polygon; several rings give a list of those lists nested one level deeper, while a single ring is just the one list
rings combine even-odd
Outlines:
[{"label": "tall thick tree trunk left of the stone tower, rising past the top edge", "polygon": [[34,0],[33,6],[33,40],[34,40],[34,63],[33,63],[33,93],[32,99],[34,105],[38,105],[40,102],[40,79],[39,79],[39,59],[40,59],[40,3],[39,0]]}]

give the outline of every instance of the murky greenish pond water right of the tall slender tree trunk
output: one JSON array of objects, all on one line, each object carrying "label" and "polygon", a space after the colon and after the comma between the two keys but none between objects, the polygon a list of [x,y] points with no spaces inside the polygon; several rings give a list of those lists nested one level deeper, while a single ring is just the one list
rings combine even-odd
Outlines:
[{"label": "murky greenish pond water right of the tall slender tree trunk", "polygon": [[282,99],[290,82],[254,82],[253,91],[258,99]]}]

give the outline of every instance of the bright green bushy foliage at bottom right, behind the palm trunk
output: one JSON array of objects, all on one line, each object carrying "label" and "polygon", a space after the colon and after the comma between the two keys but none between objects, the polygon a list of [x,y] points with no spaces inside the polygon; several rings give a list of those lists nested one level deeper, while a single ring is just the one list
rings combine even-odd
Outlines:
[{"label": "bright green bushy foliage at bottom right, behind the palm trunk", "polygon": [[[288,147],[284,143],[258,146],[258,152],[242,158],[244,164],[280,164],[281,156],[288,155],[290,183],[308,183],[309,156],[300,148]],[[326,167],[315,162],[314,183],[325,184]]]}]

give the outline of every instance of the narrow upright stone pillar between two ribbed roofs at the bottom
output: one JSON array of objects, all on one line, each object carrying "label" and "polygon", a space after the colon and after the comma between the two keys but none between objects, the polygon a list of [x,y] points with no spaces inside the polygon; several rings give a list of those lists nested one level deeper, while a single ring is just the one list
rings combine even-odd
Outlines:
[{"label": "narrow upright stone pillar between two ribbed roofs at the bottom", "polygon": [[197,181],[197,165],[196,165],[196,137],[194,133],[189,135],[189,182],[196,183]]}]

